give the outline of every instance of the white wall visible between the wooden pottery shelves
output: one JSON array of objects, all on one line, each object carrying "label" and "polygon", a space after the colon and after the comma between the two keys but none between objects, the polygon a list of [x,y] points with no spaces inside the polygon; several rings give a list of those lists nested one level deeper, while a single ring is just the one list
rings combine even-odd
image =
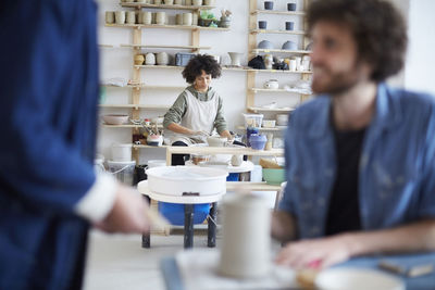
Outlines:
[{"label": "white wall visible between the wooden pottery shelves", "polygon": [[[104,27],[104,11],[115,10],[128,10],[123,9],[119,5],[116,0],[98,0],[99,3],[99,43],[115,45],[132,43],[132,28],[113,28]],[[301,5],[302,0],[296,1],[298,5]],[[286,10],[287,1],[281,0],[275,1],[276,10]],[[210,54],[219,54],[223,59],[223,64],[229,64],[228,51],[244,53],[243,64],[247,64],[248,60],[248,16],[249,16],[249,1],[248,0],[216,0],[217,9],[213,12],[217,16],[221,15],[221,9],[228,9],[233,12],[233,21],[231,31],[201,31],[200,45],[206,47],[212,47],[211,50],[203,52]],[[259,8],[262,9],[263,1],[258,1]],[[165,10],[170,14],[170,23],[174,22],[174,14],[183,11],[171,11]],[[185,11],[184,11],[185,12]],[[301,29],[300,17],[290,16],[295,22],[295,29]],[[268,28],[282,28],[284,22],[288,21],[288,16],[276,16],[276,15],[262,15],[259,20],[266,20],[269,22]],[[259,37],[259,41],[262,39],[271,40],[276,48],[286,40],[301,41],[299,36],[285,36],[285,35],[269,35]],[[142,29],[142,42],[147,45],[190,45],[190,33],[189,30],[179,29]],[[302,47],[300,46],[300,49]],[[111,77],[133,77],[133,51],[130,49],[101,49],[101,78],[107,79]],[[158,50],[153,50],[158,51]],[[176,51],[167,51],[169,53],[175,53]],[[169,86],[185,86],[185,81],[181,75],[182,70],[142,70],[142,79],[148,85],[169,85]],[[299,76],[290,74],[258,74],[257,86],[262,86],[262,83],[270,78],[277,78],[281,85],[290,84],[296,81]],[[212,84],[217,89],[224,100],[225,116],[228,123],[228,128],[234,130],[236,126],[243,124],[241,113],[246,112],[246,73],[245,72],[232,72],[223,71],[223,75],[220,79],[216,79]],[[141,103],[145,104],[172,104],[181,91],[177,90],[153,90],[149,92],[142,92]],[[289,106],[298,102],[298,98],[290,94],[264,94],[260,93],[256,97],[256,104],[266,104],[271,101],[277,101],[279,106]],[[130,91],[122,88],[110,88],[107,90],[105,103],[128,103],[130,102]],[[100,114],[104,113],[129,113],[129,110],[120,109],[104,109]],[[142,117],[153,117],[163,115],[164,111],[150,112],[142,110]],[[272,118],[273,115],[268,117]],[[110,159],[110,144],[112,142],[130,142],[130,129],[124,128],[104,128],[101,127],[99,131],[99,143],[98,149],[108,159]],[[147,149],[141,150],[140,162],[146,163],[149,159],[164,157],[164,150],[162,149]]]}]

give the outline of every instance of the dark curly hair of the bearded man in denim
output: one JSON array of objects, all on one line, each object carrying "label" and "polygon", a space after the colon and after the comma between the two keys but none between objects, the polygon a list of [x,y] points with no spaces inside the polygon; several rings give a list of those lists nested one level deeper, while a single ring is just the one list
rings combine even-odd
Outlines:
[{"label": "dark curly hair of the bearded man in denim", "polygon": [[407,27],[400,12],[385,0],[316,0],[308,9],[311,31],[320,21],[347,25],[361,60],[373,67],[371,79],[380,83],[403,66]]}]

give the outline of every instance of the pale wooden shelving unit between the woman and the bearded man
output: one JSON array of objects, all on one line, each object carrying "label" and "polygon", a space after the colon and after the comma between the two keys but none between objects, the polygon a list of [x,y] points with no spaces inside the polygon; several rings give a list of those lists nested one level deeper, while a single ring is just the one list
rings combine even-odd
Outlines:
[{"label": "pale wooden shelving unit between the woman and the bearded man", "polygon": [[[303,0],[303,8],[300,11],[276,11],[276,10],[260,10],[258,9],[258,0],[249,0],[249,35],[248,35],[248,59],[252,59],[260,53],[271,53],[271,54],[282,54],[286,55],[306,55],[309,54],[308,50],[283,50],[283,49],[258,49],[258,39],[257,36],[259,34],[286,34],[286,35],[296,35],[301,37],[299,41],[299,46],[306,48],[309,43],[309,39],[307,37],[307,31],[304,30],[306,23],[303,18],[301,20],[303,29],[302,30],[278,30],[278,29],[258,29],[258,16],[262,14],[271,14],[271,15],[279,15],[279,16],[298,16],[303,17],[306,13],[303,9],[308,7],[309,0]],[[304,71],[277,71],[277,70],[247,70],[247,93],[246,93],[246,109],[251,113],[287,113],[291,112],[294,109],[289,108],[276,108],[276,109],[266,109],[254,105],[254,99],[257,93],[290,93],[298,94],[299,101],[303,102],[307,100],[310,94],[303,94],[297,91],[288,91],[286,89],[263,89],[256,87],[256,77],[258,73],[263,74],[299,74],[300,78],[303,80],[309,80],[312,72]],[[245,129],[245,127],[238,127],[240,129]],[[261,128],[261,130],[282,130],[282,128]]]}]

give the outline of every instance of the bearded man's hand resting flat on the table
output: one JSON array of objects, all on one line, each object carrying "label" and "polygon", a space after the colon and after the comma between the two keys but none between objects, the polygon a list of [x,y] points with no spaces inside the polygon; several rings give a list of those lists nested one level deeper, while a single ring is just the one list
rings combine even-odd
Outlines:
[{"label": "bearded man's hand resting flat on the table", "polygon": [[277,255],[276,263],[293,268],[326,268],[351,257],[347,236],[302,240],[288,243]]}]

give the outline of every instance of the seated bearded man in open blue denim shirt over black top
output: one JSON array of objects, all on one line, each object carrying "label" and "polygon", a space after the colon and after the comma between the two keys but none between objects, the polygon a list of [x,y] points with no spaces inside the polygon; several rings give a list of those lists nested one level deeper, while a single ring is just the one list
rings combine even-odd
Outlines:
[{"label": "seated bearded man in open blue denim shirt over black top", "polygon": [[277,263],[434,251],[435,101],[384,83],[403,65],[401,15],[383,0],[318,0],[307,17],[319,96],[286,133]]}]

